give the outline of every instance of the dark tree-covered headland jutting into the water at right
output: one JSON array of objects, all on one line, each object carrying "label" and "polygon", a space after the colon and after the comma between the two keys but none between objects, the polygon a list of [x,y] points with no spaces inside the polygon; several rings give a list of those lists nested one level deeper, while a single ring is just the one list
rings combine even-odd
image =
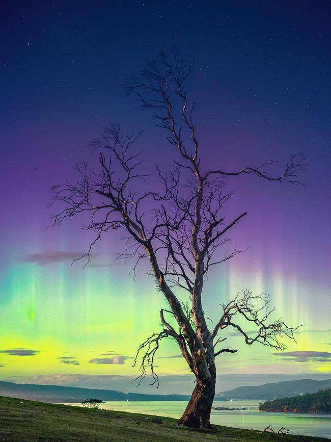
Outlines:
[{"label": "dark tree-covered headland jutting into the water at right", "polygon": [[293,398],[267,401],[261,404],[259,409],[262,411],[291,411],[295,413],[331,413],[331,388]]}]

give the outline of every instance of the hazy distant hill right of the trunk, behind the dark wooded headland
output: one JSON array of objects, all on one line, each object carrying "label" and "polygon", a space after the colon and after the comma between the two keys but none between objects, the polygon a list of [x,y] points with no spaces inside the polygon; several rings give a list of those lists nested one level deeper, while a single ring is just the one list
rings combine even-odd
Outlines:
[{"label": "hazy distant hill right of the trunk, behind the dark wooded headland", "polygon": [[263,385],[237,387],[233,390],[217,393],[217,397],[226,396],[230,399],[270,400],[286,398],[305,393],[316,393],[320,389],[331,388],[331,379],[315,381],[299,379],[297,381],[272,382]]}]

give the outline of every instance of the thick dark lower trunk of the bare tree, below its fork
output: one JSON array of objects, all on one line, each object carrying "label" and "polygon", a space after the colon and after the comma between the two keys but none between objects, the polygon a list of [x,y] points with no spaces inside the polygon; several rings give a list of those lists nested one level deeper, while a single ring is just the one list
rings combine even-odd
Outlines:
[{"label": "thick dark lower trunk of the bare tree, below its fork", "polygon": [[212,375],[208,382],[201,382],[197,379],[195,389],[178,425],[194,428],[212,428],[210,425],[210,412],[215,396],[215,382],[215,370],[212,370]]}]

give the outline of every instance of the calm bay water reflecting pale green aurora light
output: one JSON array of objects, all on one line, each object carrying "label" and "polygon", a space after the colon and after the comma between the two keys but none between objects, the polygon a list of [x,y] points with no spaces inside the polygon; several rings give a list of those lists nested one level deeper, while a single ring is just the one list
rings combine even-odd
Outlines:
[{"label": "calm bay water reflecting pale green aurora light", "polygon": [[[274,430],[285,427],[291,434],[331,438],[331,414],[276,413],[259,411],[259,401],[214,402],[214,407],[245,407],[244,411],[211,411],[211,423],[236,428],[262,430],[268,425]],[[154,414],[180,418],[187,402],[182,401],[139,401],[105,402],[100,408],[131,413]],[[68,404],[81,405],[81,404]]]}]

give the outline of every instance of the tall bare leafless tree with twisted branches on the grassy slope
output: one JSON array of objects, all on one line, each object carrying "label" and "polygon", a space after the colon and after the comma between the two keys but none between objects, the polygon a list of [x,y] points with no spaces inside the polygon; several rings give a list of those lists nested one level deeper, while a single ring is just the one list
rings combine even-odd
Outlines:
[{"label": "tall bare leafless tree with twisted branches on the grassy slope", "polygon": [[[268,297],[253,295],[249,290],[220,306],[219,320],[213,328],[207,324],[202,305],[204,279],[212,266],[240,252],[234,249],[220,255],[219,249],[227,243],[228,232],[247,214],[242,212],[231,220],[223,214],[232,196],[232,192],[225,191],[225,178],[254,175],[265,182],[299,184],[303,163],[295,155],[275,175],[267,171],[273,161],[235,171],[204,170],[201,159],[205,147],[200,148],[193,116],[195,105],[189,105],[185,89],[191,70],[192,65],[177,56],[169,61],[161,53],[126,86],[143,108],[153,111],[157,126],[166,130],[168,142],[175,147],[173,167],[166,172],[156,167],[157,182],[153,189],[148,188],[146,179],[151,178],[144,174],[142,151],[135,149],[140,133],[124,136],[119,127],[106,127],[102,137],[92,142],[99,154],[99,168],[83,163],[77,166],[80,178],[76,183],[67,181],[53,187],[53,203],[62,204],[53,222],[58,224],[84,212],[91,214],[85,228],[96,231],[96,237],[85,255],[88,262],[93,245],[112,229],[126,232],[127,247],[120,256],[135,260],[133,272],[141,259],[148,259],[157,289],[169,307],[159,313],[162,331],[149,336],[137,350],[135,362],[142,356],[140,380],[149,367],[153,383],[158,384],[153,363],[160,342],[167,338],[176,341],[196,377],[179,425],[210,428],[215,357],[237,351],[220,345],[226,339],[220,333],[230,327],[241,333],[247,345],[258,342],[276,349],[284,348],[282,337],[294,339],[294,328],[282,319],[271,320],[273,309],[269,308]],[[245,331],[244,324],[249,330],[254,326],[256,333],[252,336],[252,332]]]}]

